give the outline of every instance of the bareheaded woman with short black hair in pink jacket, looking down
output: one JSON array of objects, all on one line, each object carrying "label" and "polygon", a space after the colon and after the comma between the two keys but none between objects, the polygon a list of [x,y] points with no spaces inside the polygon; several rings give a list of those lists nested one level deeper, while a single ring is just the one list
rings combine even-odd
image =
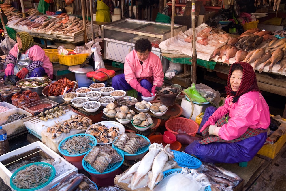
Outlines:
[{"label": "bareheaded woman with short black hair in pink jacket, looking down", "polygon": [[124,74],[112,78],[112,87],[124,91],[134,88],[145,97],[155,94],[155,88],[163,85],[164,73],[160,58],[151,52],[148,39],[138,39],[134,50],[125,57]]}]

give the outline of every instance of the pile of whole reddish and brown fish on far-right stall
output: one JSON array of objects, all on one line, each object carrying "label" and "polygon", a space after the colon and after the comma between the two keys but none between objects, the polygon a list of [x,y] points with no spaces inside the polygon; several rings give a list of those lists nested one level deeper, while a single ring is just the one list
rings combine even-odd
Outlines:
[{"label": "pile of whole reddish and brown fish on far-right stall", "polygon": [[[229,59],[235,58],[235,62],[248,62],[253,64],[253,70],[260,65],[259,73],[269,66],[268,72],[272,71],[274,64],[280,61],[280,69],[277,72],[284,72],[286,69],[286,39],[277,39],[270,31],[260,31],[253,28],[245,31],[237,38],[229,39],[227,44],[214,50],[210,58],[217,57],[222,63],[229,65]],[[225,59],[222,59],[223,56]]]}]

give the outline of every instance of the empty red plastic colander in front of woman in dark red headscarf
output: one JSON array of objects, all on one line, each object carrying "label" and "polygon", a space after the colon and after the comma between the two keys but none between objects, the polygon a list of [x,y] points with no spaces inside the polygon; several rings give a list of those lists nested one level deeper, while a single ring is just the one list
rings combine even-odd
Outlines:
[{"label": "empty red plastic colander in front of woman in dark red headscarf", "polygon": [[174,135],[179,133],[187,133],[193,137],[196,135],[199,129],[199,125],[195,121],[184,117],[168,119],[165,123],[165,127]]}]

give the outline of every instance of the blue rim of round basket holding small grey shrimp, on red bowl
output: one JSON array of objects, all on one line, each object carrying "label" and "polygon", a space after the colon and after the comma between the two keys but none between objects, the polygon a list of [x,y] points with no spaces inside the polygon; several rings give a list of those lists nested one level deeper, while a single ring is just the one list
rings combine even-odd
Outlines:
[{"label": "blue rim of round basket holding small grey shrimp, on red bowl", "polygon": [[62,146],[63,146],[68,140],[72,139],[73,137],[84,137],[84,136],[88,137],[88,138],[92,141],[91,143],[89,143],[89,144],[91,145],[91,148],[92,148],[93,146],[96,146],[97,141],[96,141],[96,139],[95,139],[94,136],[89,135],[89,134],[80,133],[80,134],[76,134],[76,135],[71,135],[71,136],[65,138],[64,140],[62,140],[62,141],[60,142],[60,144],[59,144],[59,147],[58,147],[59,152],[60,152],[62,155],[64,155],[64,156],[72,156],[72,157],[74,157],[74,156],[82,156],[82,155],[87,154],[87,153],[91,150],[91,148],[90,148],[89,150],[87,150],[86,152],[84,152],[84,153],[81,153],[81,154],[73,154],[73,155],[70,155],[69,152],[67,152],[67,150],[65,150],[65,149],[62,148]]}]

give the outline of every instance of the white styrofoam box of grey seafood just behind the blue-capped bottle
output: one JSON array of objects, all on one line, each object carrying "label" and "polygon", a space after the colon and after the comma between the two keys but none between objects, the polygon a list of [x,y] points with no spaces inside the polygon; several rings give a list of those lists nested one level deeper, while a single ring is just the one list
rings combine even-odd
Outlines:
[{"label": "white styrofoam box of grey seafood just behind the blue-capped bottle", "polygon": [[[32,115],[31,113],[20,108],[15,108],[12,110],[10,109],[0,114],[0,124],[6,122],[8,120],[8,117],[15,113],[18,113],[20,115],[26,114],[27,116]],[[24,121],[25,120],[18,119],[17,121],[2,125],[2,127],[7,131],[7,136],[10,137],[12,135],[16,135],[17,133],[21,133],[27,130]]]}]

